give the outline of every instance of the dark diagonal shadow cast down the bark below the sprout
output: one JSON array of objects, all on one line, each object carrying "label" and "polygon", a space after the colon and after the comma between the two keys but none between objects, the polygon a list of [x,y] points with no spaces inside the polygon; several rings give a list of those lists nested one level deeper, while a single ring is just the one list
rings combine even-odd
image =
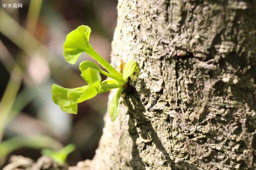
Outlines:
[{"label": "dark diagonal shadow cast down the bark below the sprout", "polygon": [[[175,164],[164,145],[162,144],[161,140],[159,139],[157,133],[155,132],[152,123],[150,120],[146,118],[143,114],[146,110],[142,105],[140,97],[135,89],[132,87],[128,87],[126,89],[125,97],[124,97],[124,105],[128,107],[128,114],[130,115],[128,125],[129,125],[129,134],[132,138],[133,146],[132,146],[132,159],[130,160],[130,166],[133,170],[145,170],[146,163],[142,161],[140,157],[139,150],[145,150],[147,146],[152,147],[153,144],[156,145],[156,148],[162,152],[165,158],[164,164],[159,164],[159,162],[154,162],[155,166],[158,168],[161,167],[170,167],[172,169],[183,169],[184,167],[191,168],[193,170],[197,170],[196,166],[189,164],[188,162],[179,162]],[[141,142],[140,146],[137,146],[136,140],[139,137],[142,137],[145,141],[148,142]],[[156,155],[154,155],[156,156]],[[148,165],[151,166],[152,165]]]}]

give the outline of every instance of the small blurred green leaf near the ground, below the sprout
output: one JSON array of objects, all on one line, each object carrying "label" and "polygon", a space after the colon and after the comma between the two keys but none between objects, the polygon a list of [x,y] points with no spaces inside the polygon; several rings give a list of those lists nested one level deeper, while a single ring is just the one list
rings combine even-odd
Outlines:
[{"label": "small blurred green leaf near the ground, below the sprout", "polygon": [[59,164],[64,164],[66,162],[68,154],[73,152],[75,149],[76,149],[76,146],[74,144],[69,144],[59,151],[54,151],[54,150],[48,149],[48,148],[43,149],[41,151],[41,154],[52,158]]}]

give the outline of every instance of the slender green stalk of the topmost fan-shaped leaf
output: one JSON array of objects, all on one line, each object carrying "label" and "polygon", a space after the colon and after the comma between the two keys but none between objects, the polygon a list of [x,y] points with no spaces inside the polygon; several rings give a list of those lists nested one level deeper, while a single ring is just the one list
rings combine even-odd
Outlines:
[{"label": "slender green stalk of the topmost fan-shaped leaf", "polygon": [[114,67],[112,67],[112,65],[110,65],[110,63],[108,63],[108,61],[106,61],[104,58],[102,58],[94,49],[93,47],[89,44],[88,47],[90,50],[87,50],[86,53],[88,55],[90,55],[93,59],[95,59],[96,61],[98,61],[98,63],[100,63],[100,65],[102,65],[102,67],[104,67],[108,72],[110,72],[113,75],[116,75],[118,77],[122,77],[122,74],[119,73],[116,69],[114,69]]}]

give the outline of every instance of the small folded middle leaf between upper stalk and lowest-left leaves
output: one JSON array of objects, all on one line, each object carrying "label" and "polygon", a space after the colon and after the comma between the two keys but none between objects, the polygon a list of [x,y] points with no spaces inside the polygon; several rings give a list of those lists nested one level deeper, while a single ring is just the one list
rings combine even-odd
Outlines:
[{"label": "small folded middle leaf between upper stalk and lowest-left leaves", "polygon": [[82,71],[81,77],[88,83],[88,85],[91,85],[96,81],[101,81],[100,72],[90,67]]}]

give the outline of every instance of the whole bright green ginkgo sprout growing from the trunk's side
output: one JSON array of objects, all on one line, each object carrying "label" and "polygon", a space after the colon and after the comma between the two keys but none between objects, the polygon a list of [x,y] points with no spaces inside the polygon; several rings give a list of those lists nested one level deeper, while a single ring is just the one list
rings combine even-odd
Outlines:
[{"label": "whole bright green ginkgo sprout growing from the trunk's side", "polygon": [[[97,63],[92,61],[83,61],[79,65],[81,77],[87,85],[68,89],[59,85],[52,85],[52,100],[60,106],[60,109],[66,113],[77,113],[78,103],[91,99],[98,93],[105,93],[112,89],[117,89],[112,101],[108,105],[108,112],[112,121],[119,114],[119,99],[122,91],[127,86],[127,80],[134,72],[135,61],[125,63],[123,72],[120,73],[104,58],[102,58],[90,45],[91,29],[88,26],[79,26],[76,30],[70,32],[64,42],[64,58],[68,63],[74,64],[81,53],[85,52],[95,59],[106,71],[102,70]],[[108,79],[102,81],[100,73],[106,75]]]}]

